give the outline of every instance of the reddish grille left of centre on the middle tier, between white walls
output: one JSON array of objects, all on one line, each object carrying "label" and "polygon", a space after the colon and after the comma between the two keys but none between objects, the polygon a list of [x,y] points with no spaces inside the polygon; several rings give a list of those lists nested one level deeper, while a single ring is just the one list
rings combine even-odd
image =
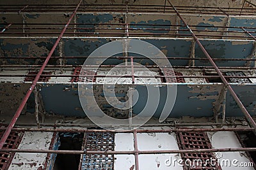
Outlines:
[{"label": "reddish grille left of centre on the middle tier, between white walls", "polygon": [[[70,82],[95,82],[96,78],[92,77],[93,75],[96,75],[97,73],[95,71],[91,71],[91,70],[86,70],[86,69],[82,69],[82,67],[76,67],[74,69],[74,73],[73,75],[76,77],[72,77],[72,80]],[[84,77],[78,77],[79,75],[83,75]],[[92,75],[90,77],[86,77],[85,75]]]}]

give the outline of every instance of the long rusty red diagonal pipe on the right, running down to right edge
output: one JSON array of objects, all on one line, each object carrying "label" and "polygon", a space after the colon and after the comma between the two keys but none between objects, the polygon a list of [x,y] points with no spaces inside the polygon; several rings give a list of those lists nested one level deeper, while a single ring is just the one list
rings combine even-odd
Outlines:
[{"label": "long rusty red diagonal pipe on the right, running down to right edge", "polygon": [[248,124],[253,127],[256,131],[256,123],[254,122],[253,118],[250,116],[250,114],[248,113],[248,111],[246,110],[246,108],[243,106],[243,103],[241,103],[240,99],[237,97],[236,93],[234,92],[234,90],[232,89],[232,87],[230,86],[230,83],[228,83],[228,81],[225,79],[225,77],[223,76],[223,74],[221,73],[220,69],[218,68],[218,66],[216,66],[216,64],[214,63],[214,61],[211,59],[211,56],[209,55],[209,53],[205,50],[204,46],[200,43],[199,39],[195,36],[194,32],[191,31],[189,25],[186,23],[186,21],[181,17],[181,15],[179,14],[179,11],[176,10],[175,6],[173,6],[172,2],[170,0],[168,0],[168,2],[171,4],[171,6],[173,7],[173,10],[176,11],[177,15],[179,15],[180,20],[182,20],[182,22],[186,25],[186,27],[189,29],[191,35],[193,36],[193,38],[195,39],[196,43],[200,46],[200,48],[202,49],[202,52],[204,52],[204,54],[206,55],[206,57],[209,59],[209,62],[211,62],[212,66],[214,67],[214,69],[216,70],[216,72],[218,73],[218,75],[220,76],[221,80],[223,81],[224,85],[227,87],[227,89],[229,90],[230,94],[233,96],[234,100],[236,101],[237,105],[239,106],[239,108],[241,109],[241,111],[244,113],[244,117],[246,117],[246,120],[248,121]]}]

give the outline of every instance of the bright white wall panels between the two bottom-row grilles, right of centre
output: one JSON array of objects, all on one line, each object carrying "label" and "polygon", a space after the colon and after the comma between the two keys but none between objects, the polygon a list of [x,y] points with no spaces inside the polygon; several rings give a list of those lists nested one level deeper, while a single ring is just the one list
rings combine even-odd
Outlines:
[{"label": "bright white wall panels between the two bottom-row grilles, right of centre", "polygon": [[[179,150],[175,134],[168,133],[138,133],[139,150]],[[134,150],[133,134],[123,133],[115,136],[115,150]],[[134,155],[115,155],[115,169],[129,170],[134,165]],[[173,167],[166,166],[166,160],[180,159],[179,154],[139,155],[139,166],[148,169],[182,169],[177,163]],[[169,162],[167,162],[169,163]],[[135,169],[135,168],[134,168]]]}]

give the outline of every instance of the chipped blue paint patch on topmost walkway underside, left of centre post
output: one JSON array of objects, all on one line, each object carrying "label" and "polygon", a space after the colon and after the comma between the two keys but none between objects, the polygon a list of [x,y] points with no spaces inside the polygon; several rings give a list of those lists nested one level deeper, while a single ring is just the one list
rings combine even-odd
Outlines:
[{"label": "chipped blue paint patch on topmost walkway underside, left of centre post", "polygon": [[113,21],[113,15],[109,13],[104,14],[87,14],[87,13],[79,13],[77,14],[77,23],[80,24],[94,24],[94,25],[77,25],[77,28],[81,27],[92,27],[93,29],[77,29],[77,32],[95,32],[95,27],[98,27],[100,23],[109,23]]}]

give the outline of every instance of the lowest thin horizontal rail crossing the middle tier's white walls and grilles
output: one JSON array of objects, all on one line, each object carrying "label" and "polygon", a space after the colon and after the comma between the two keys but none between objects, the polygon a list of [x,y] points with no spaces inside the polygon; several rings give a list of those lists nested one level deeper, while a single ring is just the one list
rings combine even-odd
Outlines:
[{"label": "lowest thin horizontal rail crossing the middle tier's white walls and grilles", "polygon": [[[36,74],[0,74],[0,77],[20,77],[20,76],[27,76],[33,77]],[[120,75],[92,75],[92,74],[83,74],[83,75],[73,75],[73,74],[59,74],[59,75],[50,75],[50,74],[41,74],[41,76],[45,77],[109,77],[109,78],[116,78],[120,77]],[[134,78],[134,74],[124,75],[124,78]],[[140,76],[140,78],[219,78],[220,76]],[[256,76],[223,76],[223,78],[256,78]]]}]

